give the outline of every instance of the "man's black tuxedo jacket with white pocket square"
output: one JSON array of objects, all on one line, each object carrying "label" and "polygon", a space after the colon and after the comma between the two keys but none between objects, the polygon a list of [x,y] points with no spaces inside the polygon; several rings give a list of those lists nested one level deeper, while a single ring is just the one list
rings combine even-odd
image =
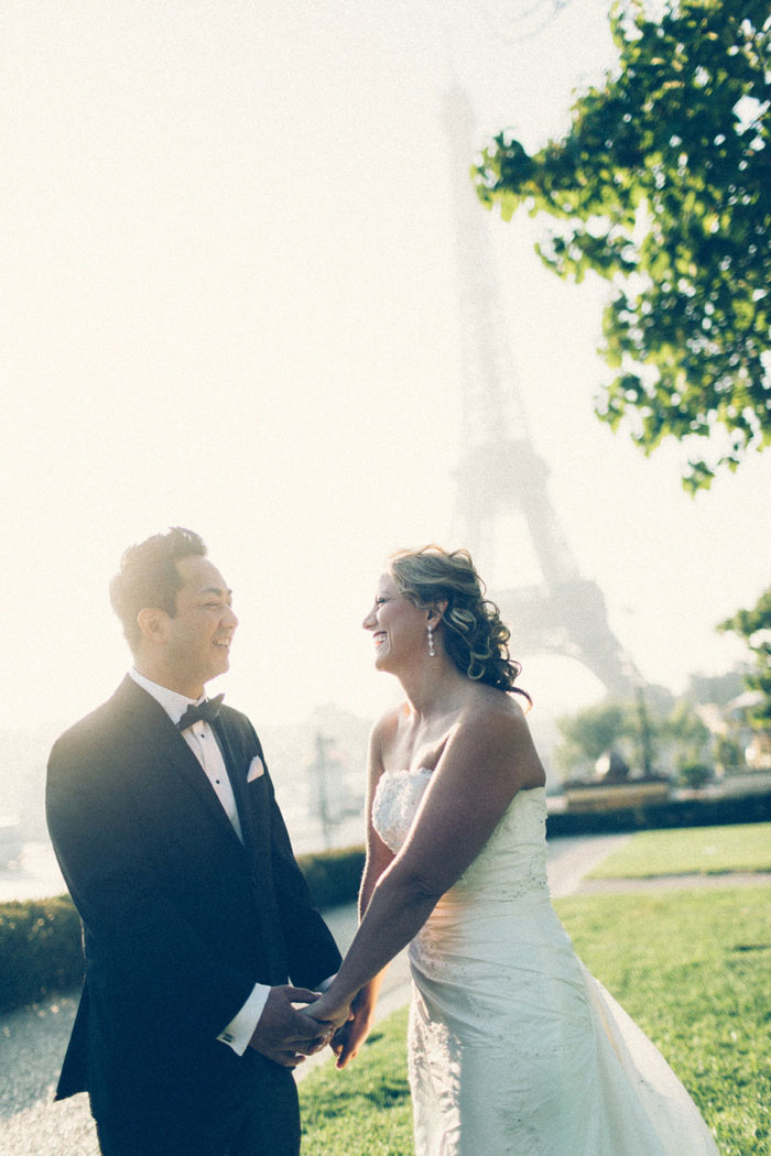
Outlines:
[{"label": "man's black tuxedo jacket with white pocket square", "polygon": [[269,1062],[216,1038],[253,985],[313,987],[340,964],[267,768],[246,781],[262,758],[251,722],[223,706],[214,726],[244,843],[181,734],[128,676],[51,753],[49,829],[86,956],[57,1098],[88,1090],[97,1125],[131,1132],[171,1114],[200,1131]]}]

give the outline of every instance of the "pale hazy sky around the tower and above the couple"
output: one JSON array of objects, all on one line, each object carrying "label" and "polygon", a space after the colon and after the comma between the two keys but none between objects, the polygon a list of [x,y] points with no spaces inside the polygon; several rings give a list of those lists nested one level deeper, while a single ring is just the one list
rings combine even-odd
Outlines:
[{"label": "pale hazy sky around the tower and above the couple", "polygon": [[[203,534],[233,586],[221,689],[258,725],[390,699],[359,628],[381,560],[464,544],[442,96],[454,73],[480,143],[507,125],[529,146],[564,131],[571,90],[613,50],[599,0],[538,32],[547,13],[2,6],[0,725],[69,721],[106,697],[127,661],[109,579],[127,543],[169,524]],[[593,416],[605,287],[547,273],[538,222],[489,228],[581,573],[650,680],[726,669],[744,651],[714,624],[769,581],[771,454],[688,498],[682,451],[646,460]],[[503,579],[533,581],[524,527],[510,544]],[[600,695],[568,660],[528,661],[522,682],[547,713]]]}]

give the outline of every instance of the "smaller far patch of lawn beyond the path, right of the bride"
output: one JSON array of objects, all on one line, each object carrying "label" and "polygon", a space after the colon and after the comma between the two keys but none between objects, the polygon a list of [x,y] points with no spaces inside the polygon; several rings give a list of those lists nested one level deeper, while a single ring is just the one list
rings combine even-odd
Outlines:
[{"label": "smaller far patch of lawn beyond the path, right of the bride", "polygon": [[595,867],[590,879],[719,875],[737,870],[771,872],[771,823],[639,831]]}]

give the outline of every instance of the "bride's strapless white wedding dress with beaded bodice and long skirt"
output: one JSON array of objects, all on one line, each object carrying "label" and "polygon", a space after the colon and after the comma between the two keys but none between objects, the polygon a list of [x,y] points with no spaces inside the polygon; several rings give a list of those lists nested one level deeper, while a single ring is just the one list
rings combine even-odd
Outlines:
[{"label": "bride's strapless white wedding dress with beaded bodice and long skirt", "polygon": [[[430,773],[380,778],[372,817],[394,852]],[[718,1156],[672,1068],[551,907],[542,787],[514,796],[409,961],[416,1156]]]}]

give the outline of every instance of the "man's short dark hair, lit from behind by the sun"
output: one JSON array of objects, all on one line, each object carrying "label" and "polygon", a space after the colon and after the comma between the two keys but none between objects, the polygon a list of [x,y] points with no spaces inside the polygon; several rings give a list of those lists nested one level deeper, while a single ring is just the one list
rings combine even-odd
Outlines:
[{"label": "man's short dark hair, lit from behind by the sun", "polygon": [[124,550],[120,570],[110,583],[110,601],[124,628],[132,651],[136,651],[142,631],[136,616],[146,607],[177,613],[177,592],[184,581],[177,570],[180,558],[205,557],[203,539],[171,526],[165,534],[154,534]]}]

